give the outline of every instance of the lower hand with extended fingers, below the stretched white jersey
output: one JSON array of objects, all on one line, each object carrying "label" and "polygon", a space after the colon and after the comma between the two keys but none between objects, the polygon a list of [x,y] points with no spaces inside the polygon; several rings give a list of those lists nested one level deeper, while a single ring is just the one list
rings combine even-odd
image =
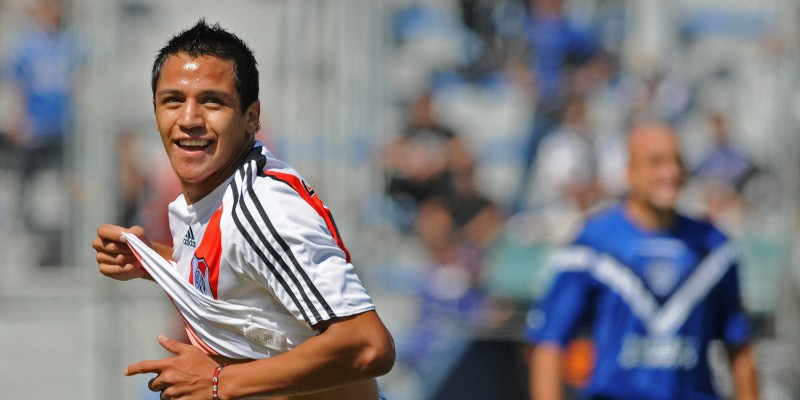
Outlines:
[{"label": "lower hand with extended fingers, below the stretched white jersey", "polygon": [[158,343],[175,357],[146,360],[125,368],[125,375],[154,372],[148,387],[161,392],[161,399],[207,400],[211,397],[211,377],[218,364],[192,345],[158,335]]}]

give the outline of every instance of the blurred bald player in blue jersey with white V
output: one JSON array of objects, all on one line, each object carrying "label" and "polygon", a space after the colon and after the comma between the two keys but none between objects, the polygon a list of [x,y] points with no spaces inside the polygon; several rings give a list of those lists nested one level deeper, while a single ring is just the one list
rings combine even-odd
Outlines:
[{"label": "blurred bald player in blue jersey with white V", "polygon": [[729,350],[736,398],[757,399],[736,253],[710,223],[675,210],[676,134],[639,123],[628,149],[626,199],[555,258],[555,280],[528,316],[531,398],[563,397],[562,349],[588,321],[596,354],[586,399],[719,399],[707,358],[715,339]]}]

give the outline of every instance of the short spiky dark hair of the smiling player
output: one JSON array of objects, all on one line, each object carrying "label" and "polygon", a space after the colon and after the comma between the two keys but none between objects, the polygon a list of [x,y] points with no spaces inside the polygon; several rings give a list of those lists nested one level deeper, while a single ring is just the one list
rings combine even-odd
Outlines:
[{"label": "short spiky dark hair of the smiling player", "polygon": [[233,63],[233,80],[239,92],[242,113],[258,100],[258,68],[253,51],[238,36],[221,28],[219,24],[209,25],[204,18],[193,27],[173,36],[158,51],[150,82],[154,99],[161,68],[164,67],[167,57],[179,53],[186,53],[190,57],[211,56]]}]

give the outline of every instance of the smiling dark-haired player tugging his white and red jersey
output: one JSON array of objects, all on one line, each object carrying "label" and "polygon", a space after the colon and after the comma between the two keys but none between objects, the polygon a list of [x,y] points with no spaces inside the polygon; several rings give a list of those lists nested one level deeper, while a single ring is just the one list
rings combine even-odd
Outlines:
[{"label": "smiling dark-haired player tugging his white and red jersey", "polygon": [[[161,336],[175,356],[132,364],[126,375],[156,373],[149,386],[162,399],[383,398],[374,377],[394,363],[391,335],[328,209],[254,138],[260,103],[250,49],[201,20],[161,49],[152,89],[183,192],[169,206],[173,246],[150,243],[139,227],[103,225],[93,247],[106,276],[152,275],[181,310],[195,346]],[[157,261],[137,243],[171,260],[189,285],[162,283],[150,264]],[[182,298],[200,306],[182,308]],[[218,305],[269,318],[257,326],[260,336],[232,343],[243,337],[232,327],[250,318],[212,315]]]}]

